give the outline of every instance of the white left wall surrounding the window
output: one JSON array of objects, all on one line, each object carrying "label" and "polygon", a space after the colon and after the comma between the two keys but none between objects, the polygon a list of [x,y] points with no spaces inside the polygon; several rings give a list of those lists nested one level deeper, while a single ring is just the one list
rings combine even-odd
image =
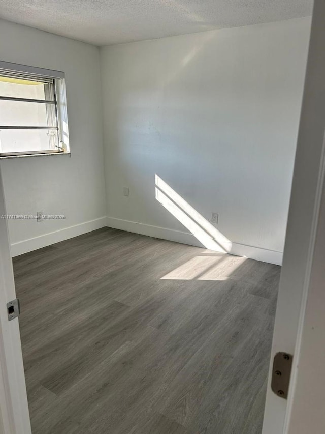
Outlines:
[{"label": "white left wall surrounding the window", "polygon": [[97,47],[4,20],[0,40],[0,60],[66,73],[71,157],[0,163],[9,214],[66,214],[66,220],[9,221],[17,254],[105,224],[100,61]]}]

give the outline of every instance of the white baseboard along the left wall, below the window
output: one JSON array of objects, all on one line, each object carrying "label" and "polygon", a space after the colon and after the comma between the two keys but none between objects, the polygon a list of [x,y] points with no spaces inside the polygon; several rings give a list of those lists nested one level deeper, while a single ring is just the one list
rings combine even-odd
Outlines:
[{"label": "white baseboard along the left wall, below the window", "polygon": [[40,235],[39,237],[19,241],[18,243],[11,244],[11,256],[18,256],[23,253],[31,252],[32,250],[40,249],[41,247],[50,246],[51,244],[86,234],[87,232],[91,232],[91,230],[100,229],[104,226],[106,226],[106,217],[101,217],[74,226],[65,227],[64,229],[55,230],[55,232]]}]

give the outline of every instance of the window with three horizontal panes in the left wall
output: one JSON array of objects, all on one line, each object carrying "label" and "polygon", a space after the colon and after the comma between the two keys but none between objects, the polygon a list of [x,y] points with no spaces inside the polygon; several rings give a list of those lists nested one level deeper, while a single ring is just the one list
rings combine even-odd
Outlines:
[{"label": "window with three horizontal panes in the left wall", "polygon": [[0,62],[0,158],[69,153],[64,73]]}]

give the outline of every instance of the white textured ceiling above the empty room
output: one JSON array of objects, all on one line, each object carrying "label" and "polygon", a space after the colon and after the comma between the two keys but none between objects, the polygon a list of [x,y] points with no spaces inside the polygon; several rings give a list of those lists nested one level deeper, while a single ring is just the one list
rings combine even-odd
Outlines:
[{"label": "white textured ceiling above the empty room", "polygon": [[95,45],[311,15],[312,0],[1,0],[0,17]]}]

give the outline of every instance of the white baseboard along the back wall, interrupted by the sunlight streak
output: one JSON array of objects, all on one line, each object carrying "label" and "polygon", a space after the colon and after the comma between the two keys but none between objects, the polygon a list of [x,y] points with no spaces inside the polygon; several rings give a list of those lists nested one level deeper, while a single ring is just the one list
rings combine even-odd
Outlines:
[{"label": "white baseboard along the back wall, interrupted by the sunlight streak", "polygon": [[[136,234],[149,237],[161,238],[163,240],[176,241],[177,243],[189,244],[191,246],[203,247],[194,235],[182,232],[181,230],[167,229],[166,227],[153,226],[150,224],[137,223],[135,221],[123,220],[115,217],[106,217],[106,226],[115,229],[126,230]],[[216,251],[223,251],[215,249]],[[282,252],[262,249],[244,244],[232,243],[229,253],[236,256],[243,256],[256,261],[268,262],[270,264],[282,265]]]}]

